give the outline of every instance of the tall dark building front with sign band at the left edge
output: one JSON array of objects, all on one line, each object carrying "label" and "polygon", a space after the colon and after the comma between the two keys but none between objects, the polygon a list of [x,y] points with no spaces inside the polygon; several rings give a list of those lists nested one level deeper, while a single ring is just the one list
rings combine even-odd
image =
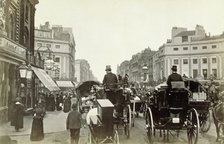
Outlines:
[{"label": "tall dark building front with sign band at the left edge", "polygon": [[34,17],[38,0],[0,1],[0,123],[9,119],[9,107],[17,96],[25,107],[34,104],[36,77],[23,81],[26,87],[20,93],[19,66],[22,63],[41,67],[34,57]]}]

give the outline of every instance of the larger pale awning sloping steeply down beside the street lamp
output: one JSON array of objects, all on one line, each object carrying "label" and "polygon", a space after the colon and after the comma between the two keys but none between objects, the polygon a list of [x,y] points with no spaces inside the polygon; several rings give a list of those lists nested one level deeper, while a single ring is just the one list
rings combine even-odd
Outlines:
[{"label": "larger pale awning sloping steeply down beside the street lamp", "polygon": [[32,66],[32,70],[49,91],[60,90],[60,88],[56,85],[56,83],[52,80],[52,78],[43,69]]}]

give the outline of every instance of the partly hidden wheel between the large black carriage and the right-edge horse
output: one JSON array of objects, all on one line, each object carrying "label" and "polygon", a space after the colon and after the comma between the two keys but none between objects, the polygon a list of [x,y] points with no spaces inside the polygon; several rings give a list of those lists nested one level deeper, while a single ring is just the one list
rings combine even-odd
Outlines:
[{"label": "partly hidden wheel between the large black carriage and the right-edge horse", "polygon": [[207,113],[202,113],[199,119],[200,119],[200,131],[203,133],[208,132],[208,130],[211,127],[210,112],[208,111]]}]

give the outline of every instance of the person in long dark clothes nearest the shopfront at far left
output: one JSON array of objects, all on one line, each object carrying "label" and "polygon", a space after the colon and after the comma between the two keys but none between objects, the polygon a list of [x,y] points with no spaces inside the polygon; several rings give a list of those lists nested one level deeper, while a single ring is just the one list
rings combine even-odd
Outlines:
[{"label": "person in long dark clothes nearest the shopfront at far left", "polygon": [[11,126],[15,126],[16,131],[19,131],[19,129],[23,128],[24,113],[24,105],[21,103],[21,101],[16,101],[15,105],[13,106],[13,117],[11,120]]}]

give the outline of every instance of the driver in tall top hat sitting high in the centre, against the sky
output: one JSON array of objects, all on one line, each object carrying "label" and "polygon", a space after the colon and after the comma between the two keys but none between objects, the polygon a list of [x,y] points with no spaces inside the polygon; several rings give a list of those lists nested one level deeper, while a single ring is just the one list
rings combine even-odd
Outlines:
[{"label": "driver in tall top hat sitting high in the centre, against the sky", "polygon": [[111,72],[110,65],[106,66],[106,74],[103,78],[103,85],[105,86],[106,95],[107,98],[115,104],[116,98],[115,98],[115,90],[117,89],[117,76]]}]

